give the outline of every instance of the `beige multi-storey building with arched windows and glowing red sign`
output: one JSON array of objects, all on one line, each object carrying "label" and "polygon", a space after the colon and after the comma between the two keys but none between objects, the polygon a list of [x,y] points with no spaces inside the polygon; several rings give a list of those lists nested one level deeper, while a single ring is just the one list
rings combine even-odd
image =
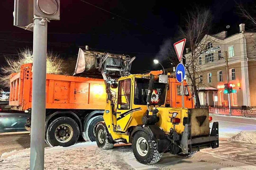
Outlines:
[{"label": "beige multi-storey building with arched windows and glowing red sign", "polygon": [[231,106],[256,106],[256,33],[246,32],[245,24],[239,28],[239,33],[229,37],[226,31],[207,35],[206,47],[197,61],[201,105],[228,105],[228,94],[224,94],[228,76],[236,90],[230,94]]}]

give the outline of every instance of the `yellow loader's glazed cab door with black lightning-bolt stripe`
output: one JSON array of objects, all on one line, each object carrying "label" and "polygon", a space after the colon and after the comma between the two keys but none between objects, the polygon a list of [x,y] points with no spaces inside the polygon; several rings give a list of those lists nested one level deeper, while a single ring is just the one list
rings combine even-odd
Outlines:
[{"label": "yellow loader's glazed cab door with black lightning-bolt stripe", "polygon": [[118,82],[117,96],[117,130],[125,131],[131,120],[131,79]]}]

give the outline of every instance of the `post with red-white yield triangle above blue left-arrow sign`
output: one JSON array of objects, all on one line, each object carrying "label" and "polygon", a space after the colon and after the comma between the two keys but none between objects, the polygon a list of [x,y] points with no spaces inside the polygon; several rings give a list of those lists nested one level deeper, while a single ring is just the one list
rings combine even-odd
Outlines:
[{"label": "post with red-white yield triangle above blue left-arrow sign", "polygon": [[176,67],[176,79],[181,83],[181,100],[182,100],[182,108],[184,108],[184,86],[183,80],[185,78],[185,66],[183,65],[182,54],[184,50],[184,46],[186,43],[186,39],[182,39],[177,43],[174,43],[174,48],[177,53],[178,59],[181,63],[179,63]]}]

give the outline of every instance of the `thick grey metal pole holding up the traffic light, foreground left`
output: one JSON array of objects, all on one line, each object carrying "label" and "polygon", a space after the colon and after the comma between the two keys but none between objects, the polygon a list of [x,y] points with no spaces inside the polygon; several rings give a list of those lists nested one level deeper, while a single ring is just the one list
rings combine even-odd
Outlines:
[{"label": "thick grey metal pole holding up the traffic light, foreground left", "polygon": [[30,170],[44,169],[47,21],[35,16]]}]

